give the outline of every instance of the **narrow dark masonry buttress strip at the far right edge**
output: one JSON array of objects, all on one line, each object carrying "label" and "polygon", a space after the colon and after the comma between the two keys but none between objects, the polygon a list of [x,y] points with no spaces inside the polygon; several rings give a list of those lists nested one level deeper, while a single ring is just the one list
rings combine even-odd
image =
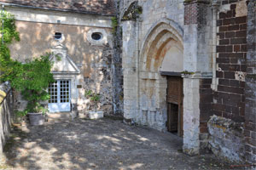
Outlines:
[{"label": "narrow dark masonry buttress strip at the far right edge", "polygon": [[247,77],[245,87],[245,156],[256,161],[256,3],[247,4]]}]

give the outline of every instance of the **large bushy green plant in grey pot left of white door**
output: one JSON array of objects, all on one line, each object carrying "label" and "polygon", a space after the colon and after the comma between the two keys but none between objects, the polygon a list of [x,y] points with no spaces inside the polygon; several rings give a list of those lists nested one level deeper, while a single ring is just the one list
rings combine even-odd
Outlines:
[{"label": "large bushy green plant in grey pot left of white door", "polygon": [[23,99],[26,99],[26,109],[17,111],[20,116],[28,114],[32,125],[42,125],[44,116],[48,111],[43,102],[49,99],[47,88],[50,82],[54,82],[50,72],[51,63],[49,54],[28,61],[25,64],[16,62],[14,68],[19,71],[10,82],[15,90],[19,91]]}]

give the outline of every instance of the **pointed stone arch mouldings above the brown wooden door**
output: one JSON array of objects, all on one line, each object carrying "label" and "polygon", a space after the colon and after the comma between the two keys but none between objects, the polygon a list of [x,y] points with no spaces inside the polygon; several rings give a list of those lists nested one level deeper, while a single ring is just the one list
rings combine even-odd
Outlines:
[{"label": "pointed stone arch mouldings above the brown wooden door", "polygon": [[159,20],[145,37],[140,54],[140,71],[157,71],[165,57],[163,49],[170,42],[179,44],[178,48],[183,50],[183,29],[173,20]]}]

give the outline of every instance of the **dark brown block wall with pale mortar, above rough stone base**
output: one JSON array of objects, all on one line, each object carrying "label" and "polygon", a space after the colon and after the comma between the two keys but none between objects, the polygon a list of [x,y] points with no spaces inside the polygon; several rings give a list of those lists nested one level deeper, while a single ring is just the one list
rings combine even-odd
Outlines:
[{"label": "dark brown block wall with pale mortar, above rough stone base", "polygon": [[236,17],[236,3],[232,3],[230,10],[218,14],[217,26],[218,91],[213,95],[212,111],[217,116],[244,122],[247,16]]}]

